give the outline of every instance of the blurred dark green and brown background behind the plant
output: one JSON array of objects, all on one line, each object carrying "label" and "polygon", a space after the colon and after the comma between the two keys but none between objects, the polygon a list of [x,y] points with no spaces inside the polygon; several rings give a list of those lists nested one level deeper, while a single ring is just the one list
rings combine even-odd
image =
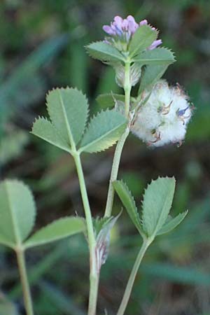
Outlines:
[{"label": "blurred dark green and brown background behind the plant", "polygon": [[[173,213],[188,217],[159,237],[146,254],[126,315],[210,314],[210,1],[209,0],[1,0],[0,176],[25,181],[36,196],[36,228],[54,218],[83,215],[73,160],[29,134],[34,117],[45,115],[45,93],[77,86],[99,110],[102,92],[122,92],[113,70],[85,53],[104,37],[102,25],[115,15],[147,18],[160,29],[177,62],[165,78],[179,82],[195,104],[180,148],[146,148],[130,137],[120,178],[141,203],[146,184],[176,176]],[[84,155],[94,216],[103,214],[114,148]],[[114,213],[121,209],[116,197]],[[127,214],[113,229],[109,260],[102,267],[98,315],[116,314],[141,239]],[[88,253],[83,237],[27,252],[35,314],[85,315]],[[24,314],[15,256],[0,248],[0,315]],[[18,313],[17,313],[18,312]]]}]

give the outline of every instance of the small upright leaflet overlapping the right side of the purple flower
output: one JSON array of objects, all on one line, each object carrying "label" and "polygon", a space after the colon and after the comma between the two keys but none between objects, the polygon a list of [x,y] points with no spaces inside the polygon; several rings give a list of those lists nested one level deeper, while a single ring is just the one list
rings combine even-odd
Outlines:
[{"label": "small upright leaflet overlapping the right side of the purple flower", "polygon": [[158,37],[158,31],[148,25],[142,25],[135,31],[129,46],[130,57],[146,50]]}]

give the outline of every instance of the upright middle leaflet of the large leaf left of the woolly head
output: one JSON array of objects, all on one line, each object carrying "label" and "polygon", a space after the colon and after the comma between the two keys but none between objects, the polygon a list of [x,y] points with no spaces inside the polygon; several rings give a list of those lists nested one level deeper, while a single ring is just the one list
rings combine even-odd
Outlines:
[{"label": "upright middle leaflet of the large leaf left of the woolly head", "polygon": [[47,95],[47,106],[52,125],[68,144],[78,144],[88,115],[85,95],[77,89],[66,87],[52,90]]}]

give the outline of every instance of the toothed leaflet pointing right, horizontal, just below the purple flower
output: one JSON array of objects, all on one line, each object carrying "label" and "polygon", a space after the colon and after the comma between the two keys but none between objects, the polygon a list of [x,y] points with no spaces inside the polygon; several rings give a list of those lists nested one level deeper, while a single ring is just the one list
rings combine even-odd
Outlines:
[{"label": "toothed leaflet pointing right, horizontal, just below the purple flower", "polygon": [[171,50],[161,47],[153,50],[146,50],[134,57],[134,62],[144,64],[172,64],[175,62],[174,54]]}]

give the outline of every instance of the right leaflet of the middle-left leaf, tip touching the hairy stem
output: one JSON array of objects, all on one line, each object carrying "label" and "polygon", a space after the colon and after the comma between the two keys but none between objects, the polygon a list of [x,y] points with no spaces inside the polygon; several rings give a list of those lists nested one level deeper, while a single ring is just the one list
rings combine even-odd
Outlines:
[{"label": "right leaflet of the middle-left leaf, tip touching the hairy stem", "polygon": [[80,152],[99,152],[113,146],[125,131],[127,120],[117,111],[102,111],[90,120],[80,144]]}]

